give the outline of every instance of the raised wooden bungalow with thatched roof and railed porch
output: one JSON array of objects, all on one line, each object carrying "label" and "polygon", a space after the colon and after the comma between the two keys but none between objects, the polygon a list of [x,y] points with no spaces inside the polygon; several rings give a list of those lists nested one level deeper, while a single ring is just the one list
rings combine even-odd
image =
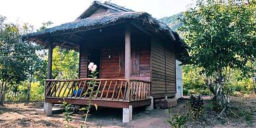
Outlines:
[{"label": "raised wooden bungalow with thatched roof and railed porch", "polygon": [[[153,98],[176,96],[176,59],[187,54],[179,35],[148,13],[135,12],[113,3],[94,1],[75,21],[22,36],[24,42],[46,46],[48,79],[44,113],[53,104],[86,105],[88,63],[98,65],[98,106],[123,108],[123,122],[132,119],[133,108],[152,109]],[[80,53],[79,79],[58,80],[51,76],[55,46]],[[182,60],[181,60],[182,61]],[[77,93],[74,93],[77,92]],[[175,99],[175,98],[174,98]]]}]

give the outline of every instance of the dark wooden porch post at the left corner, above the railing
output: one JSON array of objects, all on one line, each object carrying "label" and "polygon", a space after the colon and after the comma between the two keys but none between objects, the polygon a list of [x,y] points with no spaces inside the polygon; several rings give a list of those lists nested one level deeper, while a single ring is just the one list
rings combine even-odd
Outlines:
[{"label": "dark wooden porch post at the left corner, above the railing", "polygon": [[52,53],[53,53],[53,42],[48,43],[48,72],[47,79],[52,79]]}]

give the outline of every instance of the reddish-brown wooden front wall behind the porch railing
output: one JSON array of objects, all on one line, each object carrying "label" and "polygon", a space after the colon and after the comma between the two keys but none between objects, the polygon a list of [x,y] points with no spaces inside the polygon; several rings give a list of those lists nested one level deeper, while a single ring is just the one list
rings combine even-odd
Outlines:
[{"label": "reddish-brown wooden front wall behind the porch railing", "polygon": [[[86,78],[87,75],[88,51],[85,46],[80,46],[80,78]],[[100,56],[101,79],[125,78],[124,43],[100,48]],[[135,56],[137,60],[133,59]],[[150,40],[131,40],[131,57],[137,61],[137,67],[132,68],[138,69],[136,74],[131,75],[131,79],[150,81]]]}]

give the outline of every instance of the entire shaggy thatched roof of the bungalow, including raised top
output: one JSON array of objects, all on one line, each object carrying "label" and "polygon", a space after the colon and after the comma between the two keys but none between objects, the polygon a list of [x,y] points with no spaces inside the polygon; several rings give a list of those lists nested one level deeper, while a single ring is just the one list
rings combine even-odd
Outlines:
[{"label": "entire shaggy thatched roof of the bungalow, including raised top", "polygon": [[[99,2],[94,2],[92,6],[97,7],[98,5],[100,5]],[[150,28],[150,32],[152,32],[152,34],[161,34],[162,36],[170,38],[170,40],[172,40],[172,42],[174,42],[176,46],[179,47],[180,49],[179,52],[187,53],[186,51],[187,45],[181,40],[181,38],[179,38],[177,32],[172,31],[168,25],[160,22],[159,20],[156,20],[156,18],[153,18],[148,13],[134,12],[129,9],[125,10],[125,8],[123,7],[119,7],[114,4],[110,5],[110,3],[104,3],[104,5],[112,6],[112,10],[113,8],[115,8],[117,12],[116,13],[112,12],[112,13],[108,13],[100,16],[92,16],[92,17],[85,16],[86,18],[80,19],[81,17],[84,17],[84,13],[83,13],[83,15],[80,16],[80,18],[78,18],[73,22],[61,24],[60,26],[55,26],[53,28],[47,28],[42,32],[34,32],[31,34],[26,34],[21,38],[23,41],[24,40],[34,41],[44,45],[44,41],[46,40],[46,38],[50,36],[54,36],[55,34],[76,32],[80,30],[86,31],[86,30],[92,30],[95,28],[111,26],[113,24],[119,24],[120,22],[136,21],[136,22],[139,22],[141,26],[143,26],[144,28]],[[87,13],[88,13],[88,10],[87,10]]]}]

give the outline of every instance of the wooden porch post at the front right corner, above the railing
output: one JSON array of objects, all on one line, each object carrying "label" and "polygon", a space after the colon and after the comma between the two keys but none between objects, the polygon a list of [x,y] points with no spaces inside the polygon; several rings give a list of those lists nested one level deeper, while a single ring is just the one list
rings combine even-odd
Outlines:
[{"label": "wooden porch post at the front right corner, above the railing", "polygon": [[131,75],[131,26],[125,24],[125,79],[130,79]]}]

